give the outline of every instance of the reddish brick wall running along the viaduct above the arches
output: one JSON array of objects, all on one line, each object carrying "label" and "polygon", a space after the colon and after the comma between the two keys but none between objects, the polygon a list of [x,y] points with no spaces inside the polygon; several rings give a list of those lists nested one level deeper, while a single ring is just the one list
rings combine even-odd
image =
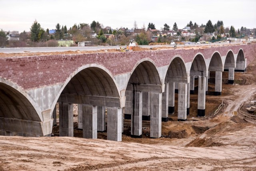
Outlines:
[{"label": "reddish brick wall running along the viaduct above the arches", "polygon": [[137,52],[114,52],[95,54],[73,54],[52,56],[26,56],[0,58],[0,77],[6,78],[24,89],[33,89],[45,85],[62,84],[78,68],[86,64],[98,64],[105,67],[113,76],[131,72],[138,61],[150,58],[156,67],[166,66],[174,56],[181,56],[184,62],[192,62],[198,53],[209,59],[214,52],[226,56],[229,50],[237,54],[244,50],[244,56],[252,60],[256,45],[217,46],[191,50],[154,50]]}]

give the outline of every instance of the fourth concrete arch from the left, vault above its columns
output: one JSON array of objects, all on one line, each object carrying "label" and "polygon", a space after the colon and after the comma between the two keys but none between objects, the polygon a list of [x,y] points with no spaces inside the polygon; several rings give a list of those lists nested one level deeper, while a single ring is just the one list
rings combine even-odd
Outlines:
[{"label": "fourth concrete arch from the left, vault above its columns", "polygon": [[185,62],[181,56],[177,55],[172,58],[166,71],[166,76],[188,76]]}]

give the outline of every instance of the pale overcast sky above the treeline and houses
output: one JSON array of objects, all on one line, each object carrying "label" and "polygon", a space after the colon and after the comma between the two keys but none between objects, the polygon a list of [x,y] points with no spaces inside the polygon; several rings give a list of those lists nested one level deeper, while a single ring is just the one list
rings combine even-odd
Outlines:
[{"label": "pale overcast sky above the treeline and houses", "polygon": [[0,0],[0,29],[30,31],[34,20],[49,30],[93,20],[114,29],[131,29],[135,20],[138,28],[152,22],[156,29],[222,20],[237,30],[256,28],[256,0]]}]

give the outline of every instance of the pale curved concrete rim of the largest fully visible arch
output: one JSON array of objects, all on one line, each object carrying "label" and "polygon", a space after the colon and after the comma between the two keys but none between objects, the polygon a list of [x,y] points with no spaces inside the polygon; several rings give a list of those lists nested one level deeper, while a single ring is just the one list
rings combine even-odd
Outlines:
[{"label": "pale curved concrete rim of the largest fully visible arch", "polygon": [[120,95],[120,91],[118,89],[118,84],[116,84],[116,80],[114,79],[113,75],[111,74],[111,72],[105,68],[104,66],[101,66],[99,64],[86,64],[84,66],[81,66],[80,68],[78,68],[77,70],[75,70],[72,74],[70,74],[70,76],[66,79],[65,83],[62,85],[59,93],[56,95],[56,98],[54,99],[53,103],[52,103],[52,106],[51,106],[51,110],[53,111],[54,107],[55,107],[55,104],[57,103],[58,101],[58,98],[60,97],[60,94],[62,93],[62,91],[64,90],[64,88],[66,87],[66,85],[70,82],[70,80],[76,76],[76,74],[78,74],[80,71],[86,69],[86,68],[91,68],[91,67],[96,67],[96,68],[100,68],[102,70],[104,70],[111,78],[112,80],[114,81],[114,84],[116,85],[116,89],[118,91],[118,94],[119,94],[119,97],[121,97]]}]

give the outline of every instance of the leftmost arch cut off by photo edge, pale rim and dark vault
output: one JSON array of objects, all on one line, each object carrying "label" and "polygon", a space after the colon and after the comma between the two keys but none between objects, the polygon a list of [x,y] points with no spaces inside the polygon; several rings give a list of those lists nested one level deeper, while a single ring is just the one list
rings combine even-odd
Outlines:
[{"label": "leftmost arch cut off by photo edge, pale rim and dark vault", "polygon": [[15,83],[0,78],[0,117],[43,121],[37,103]]}]

